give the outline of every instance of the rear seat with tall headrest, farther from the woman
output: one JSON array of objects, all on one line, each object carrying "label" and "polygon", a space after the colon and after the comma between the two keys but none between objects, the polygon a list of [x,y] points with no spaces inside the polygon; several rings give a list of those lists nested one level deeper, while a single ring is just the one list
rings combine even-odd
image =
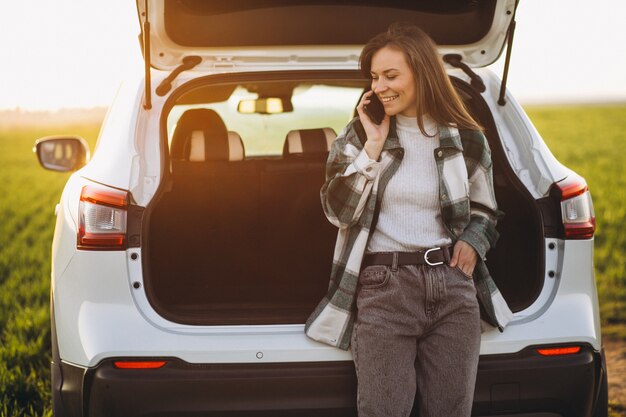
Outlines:
[{"label": "rear seat with tall headrest, farther from the woman", "polygon": [[[244,157],[241,137],[215,111],[193,109],[180,118],[171,145],[172,191],[158,205],[179,221],[163,236],[156,260],[163,269],[158,276],[177,277],[168,283],[174,304],[177,294],[187,303],[189,294],[202,303],[224,292],[241,298],[246,286],[238,277],[255,272],[259,184],[256,163]],[[192,272],[180,276],[180,270]],[[216,280],[225,291],[212,291]]]}]

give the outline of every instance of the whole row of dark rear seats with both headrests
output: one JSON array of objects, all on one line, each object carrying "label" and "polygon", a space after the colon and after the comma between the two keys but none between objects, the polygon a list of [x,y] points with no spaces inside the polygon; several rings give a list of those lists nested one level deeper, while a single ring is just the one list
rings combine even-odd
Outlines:
[{"label": "whole row of dark rear seats with both headrests", "polygon": [[217,314],[235,302],[250,303],[248,315],[256,305],[308,314],[332,266],[337,231],[319,191],[335,133],[292,131],[283,158],[245,160],[241,138],[215,112],[190,112],[172,139],[172,191],[151,219],[168,225],[150,238],[150,274],[167,288],[160,301],[181,311],[208,304]]}]

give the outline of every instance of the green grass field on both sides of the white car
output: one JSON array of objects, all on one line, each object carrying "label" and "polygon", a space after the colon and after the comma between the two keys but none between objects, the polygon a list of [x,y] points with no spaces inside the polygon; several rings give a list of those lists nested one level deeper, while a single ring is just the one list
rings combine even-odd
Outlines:
[{"label": "green grass field on both sides of the white car", "polygon": [[[527,109],[555,156],[587,179],[597,216],[596,278],[603,332],[626,339],[626,106]],[[0,417],[50,410],[50,247],[67,174],[44,171],[36,138],[99,126],[0,128]],[[616,415],[616,414],[613,414]]]}]

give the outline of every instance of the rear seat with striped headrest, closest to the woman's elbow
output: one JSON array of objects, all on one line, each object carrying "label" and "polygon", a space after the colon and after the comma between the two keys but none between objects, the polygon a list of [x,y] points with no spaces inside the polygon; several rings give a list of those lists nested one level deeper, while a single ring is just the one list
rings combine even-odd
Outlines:
[{"label": "rear seat with striped headrest, closest to the woman's elbow", "polygon": [[263,233],[274,236],[263,247],[263,268],[276,283],[298,281],[282,286],[289,291],[281,298],[310,298],[311,291],[322,296],[326,290],[327,281],[315,274],[320,265],[330,274],[337,230],[324,216],[319,192],[335,137],[330,128],[292,130],[285,138],[283,159],[268,161],[261,171]]}]

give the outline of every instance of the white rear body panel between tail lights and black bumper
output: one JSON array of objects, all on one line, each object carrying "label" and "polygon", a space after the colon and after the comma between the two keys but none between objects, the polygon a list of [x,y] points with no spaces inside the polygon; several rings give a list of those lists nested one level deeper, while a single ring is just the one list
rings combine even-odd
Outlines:
[{"label": "white rear body panel between tail lights and black bumper", "polygon": [[[65,235],[71,239],[71,224],[69,228]],[[549,306],[531,321],[524,320],[526,311],[516,313],[503,333],[496,329],[483,333],[482,355],[514,353],[535,344],[588,343],[600,349],[595,285],[587,275],[593,273],[593,241],[564,241],[560,246],[565,253],[558,271],[560,283]],[[132,259],[132,253],[139,255],[137,260]],[[146,298],[140,259],[139,248],[77,251],[68,266],[60,274],[56,272],[53,293],[63,360],[92,367],[105,358],[124,356],[175,356],[189,363],[351,359],[349,352],[308,339],[303,325],[191,326],[169,322],[156,314]],[[94,262],[101,267],[93,268]],[[138,288],[134,288],[135,283]]]}]

